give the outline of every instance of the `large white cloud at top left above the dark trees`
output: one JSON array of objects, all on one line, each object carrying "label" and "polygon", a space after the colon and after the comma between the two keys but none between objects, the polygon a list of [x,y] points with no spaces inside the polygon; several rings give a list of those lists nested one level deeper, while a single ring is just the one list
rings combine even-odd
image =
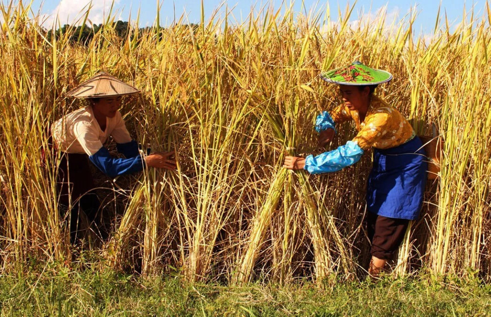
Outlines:
[{"label": "large white cloud at top left above the dark trees", "polygon": [[[63,26],[64,24],[81,25],[83,18],[89,11],[88,19],[92,24],[101,24],[110,12],[111,6],[113,6],[111,14],[116,13],[117,4],[120,0],[60,0],[56,8],[49,14],[45,15],[43,26],[46,28],[52,28],[58,21]],[[56,25],[56,28],[59,25]]]}]

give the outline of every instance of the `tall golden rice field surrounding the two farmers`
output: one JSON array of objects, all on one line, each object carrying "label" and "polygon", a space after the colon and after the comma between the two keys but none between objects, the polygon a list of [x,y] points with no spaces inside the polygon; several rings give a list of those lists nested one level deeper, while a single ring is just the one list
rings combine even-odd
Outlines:
[{"label": "tall golden rice field surrounding the two farmers", "polygon": [[[341,172],[283,169],[287,154],[319,154],[313,124],[340,103],[322,70],[360,60],[394,75],[376,91],[419,134],[444,139],[441,171],[427,185],[394,274],[491,281],[491,10],[456,28],[435,13],[431,39],[409,15],[392,26],[331,27],[326,12],[264,9],[244,24],[228,16],[130,30],[113,18],[87,44],[68,29],[47,37],[28,5],[2,8],[0,28],[0,271],[30,260],[65,262],[73,248],[58,211],[55,166],[45,131],[83,102],[64,97],[103,70],[138,89],[121,112],[132,135],[154,151],[175,149],[177,171],[146,170],[110,180],[100,198],[110,240],[88,239],[100,267],[144,275],[176,270],[190,281],[242,283],[362,278],[369,261],[365,180],[371,155]],[[307,11],[308,12],[308,11]],[[482,14],[482,13],[480,13]],[[329,148],[355,135],[345,124]],[[114,144],[109,145],[114,148]],[[89,235],[90,237],[90,235]]]}]

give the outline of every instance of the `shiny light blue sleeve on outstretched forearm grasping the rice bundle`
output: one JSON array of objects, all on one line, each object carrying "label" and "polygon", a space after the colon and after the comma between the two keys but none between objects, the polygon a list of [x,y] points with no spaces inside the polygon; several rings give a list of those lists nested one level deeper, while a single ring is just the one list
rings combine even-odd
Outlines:
[{"label": "shiny light blue sleeve on outstretched forearm grasping the rice bundle", "polygon": [[335,150],[324,152],[314,157],[305,158],[304,169],[310,174],[332,173],[353,165],[360,160],[363,150],[354,141],[348,141]]}]

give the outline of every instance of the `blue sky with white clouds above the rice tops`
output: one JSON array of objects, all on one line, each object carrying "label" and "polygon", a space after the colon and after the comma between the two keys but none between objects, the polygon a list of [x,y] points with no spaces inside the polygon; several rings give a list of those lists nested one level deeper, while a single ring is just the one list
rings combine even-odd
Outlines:
[{"label": "blue sky with white clouds above the rice tops", "polygon": [[[3,0],[6,1],[6,0]],[[123,21],[128,21],[131,14],[131,20],[136,19],[138,9],[140,10],[139,26],[151,26],[155,23],[157,16],[157,2],[159,0],[114,0],[114,9],[116,16]],[[208,20],[212,13],[220,6],[221,3],[226,3],[229,8],[234,8],[232,14],[237,23],[245,21],[247,15],[251,11],[251,7],[255,7],[257,12],[259,8],[264,5],[273,5],[274,8],[280,8],[285,5],[284,3],[290,3],[291,0],[203,0],[205,7],[205,20]],[[26,0],[25,0],[26,2]],[[39,12],[46,15],[45,26],[51,26],[53,24],[53,17],[58,14],[58,17],[62,24],[72,23],[81,16],[83,7],[86,6],[89,0],[33,0],[32,9],[34,12]],[[199,22],[201,16],[201,1],[200,0],[160,0],[160,24],[162,26],[170,25],[174,20],[174,7],[175,16],[179,18],[184,12],[186,12],[187,19],[191,23]],[[326,12],[327,3],[331,11],[331,19],[336,20],[338,18],[338,8],[344,12],[347,3],[354,3],[354,1],[317,1],[317,0],[303,0],[305,7],[308,9],[314,9],[316,11],[321,10]],[[436,21],[436,13],[438,11],[438,5],[440,2],[436,0],[409,0],[409,1],[395,1],[395,0],[358,0],[355,4],[355,10],[351,17],[352,23],[358,23],[358,21],[368,21],[376,19],[377,12],[382,7],[385,7],[388,20],[402,19],[411,8],[416,8],[418,17],[415,23],[416,33],[432,33]],[[92,9],[89,15],[89,19],[95,24],[99,24],[103,21],[109,8],[111,6],[111,0],[94,0],[92,3]],[[441,0],[442,12],[446,12],[447,17],[451,25],[456,26],[462,21],[462,17],[465,10],[468,11],[474,7],[474,12],[481,16],[486,10],[486,0]],[[221,11],[224,11],[225,6],[222,6]],[[294,10],[301,12],[302,1],[294,1]],[[303,10],[302,10],[303,11]],[[308,10],[307,10],[308,11]],[[234,22],[232,22],[234,23]]]}]

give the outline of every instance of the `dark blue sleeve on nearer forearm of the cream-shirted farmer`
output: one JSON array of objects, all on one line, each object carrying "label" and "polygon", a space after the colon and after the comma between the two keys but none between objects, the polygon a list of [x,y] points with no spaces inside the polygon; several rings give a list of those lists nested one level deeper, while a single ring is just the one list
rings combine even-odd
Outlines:
[{"label": "dark blue sleeve on nearer forearm of the cream-shirted farmer", "polygon": [[89,156],[89,159],[109,177],[139,172],[143,170],[144,166],[143,159],[139,155],[129,159],[115,159],[110,156],[108,149],[105,147],[102,147],[94,155]]}]

